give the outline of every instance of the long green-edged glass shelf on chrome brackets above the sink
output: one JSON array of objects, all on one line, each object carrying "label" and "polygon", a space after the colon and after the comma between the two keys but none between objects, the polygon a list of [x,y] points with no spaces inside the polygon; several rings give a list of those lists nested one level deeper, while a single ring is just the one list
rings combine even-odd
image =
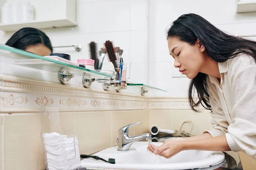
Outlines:
[{"label": "long green-edged glass shelf on chrome brackets above the sink", "polygon": [[[89,88],[91,81],[87,80],[102,80],[105,82],[109,82],[111,79],[114,79],[115,72],[114,71],[94,71],[89,70],[87,68],[79,67],[77,63],[68,61],[62,62],[60,60],[51,59],[48,57],[43,57],[34,53],[30,53],[27,51],[19,50],[16,48],[9,47],[7,45],[0,44],[0,60],[2,68],[0,68],[0,73],[2,74],[10,74],[20,77],[28,77],[31,78],[30,68],[37,69],[37,74],[33,73],[32,78],[39,79],[38,76],[43,77],[42,79],[49,78],[47,81],[59,81],[62,84],[69,83],[70,79],[75,77],[76,80],[81,82],[84,87]],[[62,59],[63,60],[63,59]],[[14,69],[14,70],[13,70]],[[41,74],[41,71],[47,71],[53,73],[49,75],[49,77]],[[39,72],[39,73],[38,73]],[[84,75],[84,73],[86,75]],[[58,77],[55,77],[55,74],[58,74]],[[37,76],[38,75],[38,76]],[[53,76],[53,78],[52,78]],[[40,78],[41,78],[40,77]],[[85,81],[83,81],[85,80]],[[98,81],[99,82],[99,81]],[[77,85],[77,81],[73,81],[72,83]],[[80,84],[81,85],[81,84]],[[135,84],[131,83],[129,86],[145,88],[145,90],[159,90],[164,91],[160,88],[155,88],[145,84]],[[137,89],[137,88],[136,88]]]}]

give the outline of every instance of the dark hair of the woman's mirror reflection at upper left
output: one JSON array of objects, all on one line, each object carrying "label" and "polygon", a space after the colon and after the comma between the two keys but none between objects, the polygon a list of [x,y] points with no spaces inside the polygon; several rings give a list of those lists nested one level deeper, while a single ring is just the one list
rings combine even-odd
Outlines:
[{"label": "dark hair of the woman's mirror reflection at upper left", "polygon": [[27,47],[38,44],[45,45],[52,53],[52,43],[49,37],[37,28],[21,28],[6,42],[6,45],[20,50],[26,50]]}]

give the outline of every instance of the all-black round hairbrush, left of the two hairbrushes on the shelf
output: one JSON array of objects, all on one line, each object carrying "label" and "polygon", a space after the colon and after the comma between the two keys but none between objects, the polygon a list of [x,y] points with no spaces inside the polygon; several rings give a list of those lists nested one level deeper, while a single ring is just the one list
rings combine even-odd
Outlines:
[{"label": "all-black round hairbrush, left of the two hairbrushes on the shelf", "polygon": [[91,41],[88,43],[89,58],[94,60],[94,68],[99,69],[99,46],[97,42]]}]

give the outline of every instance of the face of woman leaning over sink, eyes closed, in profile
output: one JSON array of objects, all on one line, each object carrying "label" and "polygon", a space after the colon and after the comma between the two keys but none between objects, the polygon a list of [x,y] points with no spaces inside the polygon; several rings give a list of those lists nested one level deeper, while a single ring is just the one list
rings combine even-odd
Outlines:
[{"label": "face of woman leaning over sink, eyes closed, in profile", "polygon": [[175,68],[179,68],[179,71],[189,79],[195,78],[204,63],[204,45],[199,41],[196,41],[195,45],[190,45],[180,41],[178,37],[169,37],[168,48],[175,59]]}]

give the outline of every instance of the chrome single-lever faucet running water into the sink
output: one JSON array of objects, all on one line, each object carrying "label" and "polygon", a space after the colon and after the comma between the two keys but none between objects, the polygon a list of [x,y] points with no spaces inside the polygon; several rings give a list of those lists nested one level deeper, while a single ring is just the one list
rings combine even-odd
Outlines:
[{"label": "chrome single-lever faucet running water into the sink", "polygon": [[142,139],[151,139],[151,134],[145,133],[138,136],[132,136],[129,135],[129,128],[133,125],[140,124],[142,122],[132,123],[130,125],[126,125],[124,127],[121,127],[118,130],[119,138],[116,138],[116,142],[118,143],[118,149],[119,151],[128,151],[131,147],[131,144],[134,142],[140,141]]}]

